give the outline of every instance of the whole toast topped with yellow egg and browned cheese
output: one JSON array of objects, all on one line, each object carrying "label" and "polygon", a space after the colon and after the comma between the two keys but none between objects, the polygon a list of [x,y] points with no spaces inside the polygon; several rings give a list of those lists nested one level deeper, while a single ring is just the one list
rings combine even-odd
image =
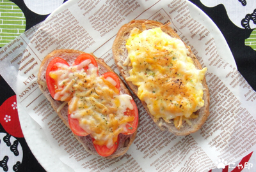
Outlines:
[{"label": "whole toast topped with yellow egg and browned cheese", "polygon": [[113,43],[113,56],[125,82],[162,130],[194,133],[209,115],[209,91],[190,47],[168,25],[132,20]]}]

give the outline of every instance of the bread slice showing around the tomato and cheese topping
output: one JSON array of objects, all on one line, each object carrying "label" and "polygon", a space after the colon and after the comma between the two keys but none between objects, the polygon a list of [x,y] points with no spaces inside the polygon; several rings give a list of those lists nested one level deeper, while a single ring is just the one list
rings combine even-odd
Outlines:
[{"label": "bread slice showing around the tomato and cheese topping", "polygon": [[[60,57],[60,58],[64,59],[65,61],[67,61],[68,64],[71,65],[76,60],[76,58],[81,54],[84,54],[84,52],[80,52],[77,50],[54,50],[49,55],[47,55],[44,58],[44,60],[42,61],[42,64],[41,64],[39,72],[38,72],[37,82],[38,82],[40,90],[42,90],[44,96],[50,101],[52,108],[54,108],[55,111],[57,111],[57,109],[61,106],[61,104],[63,104],[63,102],[56,101],[51,97],[51,94],[47,88],[47,83],[46,83],[46,78],[45,78],[47,66],[48,66],[49,62],[51,62],[52,59],[54,59],[55,57]],[[102,75],[108,71],[114,72],[103,61],[103,59],[97,59],[97,57],[95,57],[95,59],[99,66],[99,75]],[[122,80],[120,80],[120,85],[121,85],[121,92],[123,94],[129,94],[131,96],[131,92],[125,87],[125,84],[124,84],[124,82],[122,82]],[[57,112],[57,113],[58,113],[59,117],[63,120],[63,122],[69,127],[69,125],[68,125],[68,105],[66,104],[60,110],[60,112]],[[119,145],[118,145],[116,152],[113,153],[112,155],[109,155],[106,158],[114,158],[114,157],[118,157],[120,155],[124,155],[125,152],[127,152],[127,150],[129,149],[130,145],[132,144],[132,141],[134,140],[136,133],[137,133],[137,131],[135,131],[133,134],[130,134],[130,135],[119,134]],[[93,147],[93,142],[92,142],[92,138],[90,137],[90,135],[88,135],[88,136],[74,135],[74,136],[83,145],[83,147],[85,148],[86,151],[88,151],[90,154],[99,155],[99,154],[97,154],[95,148]]]}]

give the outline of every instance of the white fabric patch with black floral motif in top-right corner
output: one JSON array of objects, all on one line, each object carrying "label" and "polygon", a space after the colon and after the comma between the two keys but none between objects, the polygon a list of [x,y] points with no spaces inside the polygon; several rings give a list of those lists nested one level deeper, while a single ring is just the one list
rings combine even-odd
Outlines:
[{"label": "white fabric patch with black floral motif in top-right corner", "polygon": [[200,0],[205,6],[214,7],[223,4],[229,19],[243,29],[256,28],[256,1],[255,0]]}]

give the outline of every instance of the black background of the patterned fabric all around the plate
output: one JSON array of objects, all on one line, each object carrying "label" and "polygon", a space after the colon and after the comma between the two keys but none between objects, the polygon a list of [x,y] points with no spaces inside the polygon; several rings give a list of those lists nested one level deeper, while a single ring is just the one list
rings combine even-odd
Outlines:
[{"label": "black background of the patterned fabric all around the plate", "polygon": [[[11,0],[13,3],[17,4],[19,8],[23,11],[26,17],[26,30],[33,27],[47,18],[48,15],[38,15],[30,11],[24,1],[21,0]],[[65,0],[67,1],[67,0]],[[64,2],[65,2],[64,1]],[[237,64],[239,72],[244,76],[247,82],[256,90],[256,51],[251,47],[244,45],[244,39],[248,38],[253,31],[253,29],[240,29],[234,25],[228,18],[225,7],[220,4],[213,8],[207,8],[199,0],[189,0],[196,4],[201,10],[203,10],[212,21],[219,27],[223,36],[227,40],[227,43],[234,55],[234,59]],[[4,81],[3,77],[0,76],[0,105],[11,97],[15,95],[13,90]],[[0,124],[0,133],[6,133],[2,125]],[[23,148],[23,160],[19,168],[19,171],[45,171],[44,168],[36,161],[35,157],[29,150],[26,140],[24,138],[17,138]],[[47,152],[47,150],[45,150]]]}]

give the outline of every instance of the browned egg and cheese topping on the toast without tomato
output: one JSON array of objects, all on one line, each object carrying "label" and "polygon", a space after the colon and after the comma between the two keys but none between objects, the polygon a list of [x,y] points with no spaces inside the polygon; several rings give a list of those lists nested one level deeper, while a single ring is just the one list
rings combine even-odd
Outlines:
[{"label": "browned egg and cheese topping on the toast without tomato", "polygon": [[176,118],[177,126],[182,127],[182,117],[187,120],[204,106],[202,80],[207,68],[195,68],[180,39],[160,28],[143,32],[135,28],[126,48],[124,65],[132,66],[126,79],[138,86],[138,97],[147,103],[155,120]]}]

